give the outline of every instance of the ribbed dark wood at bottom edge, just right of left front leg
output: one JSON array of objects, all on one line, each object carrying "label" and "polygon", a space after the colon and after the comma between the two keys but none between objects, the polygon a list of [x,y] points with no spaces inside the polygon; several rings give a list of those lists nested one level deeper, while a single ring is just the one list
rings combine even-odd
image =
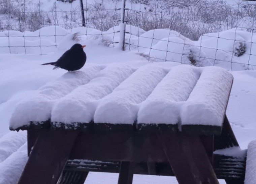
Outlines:
[{"label": "ribbed dark wood at bottom edge, just right of left front leg", "polygon": [[89,172],[64,170],[58,184],[84,184]]}]

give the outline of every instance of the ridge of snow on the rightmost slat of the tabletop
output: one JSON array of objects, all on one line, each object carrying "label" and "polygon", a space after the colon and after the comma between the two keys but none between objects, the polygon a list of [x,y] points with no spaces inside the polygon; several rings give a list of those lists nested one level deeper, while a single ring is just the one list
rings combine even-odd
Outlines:
[{"label": "ridge of snow on the rightmost slat of the tabletop", "polygon": [[221,126],[232,81],[233,76],[227,70],[205,67],[181,109],[182,125]]}]

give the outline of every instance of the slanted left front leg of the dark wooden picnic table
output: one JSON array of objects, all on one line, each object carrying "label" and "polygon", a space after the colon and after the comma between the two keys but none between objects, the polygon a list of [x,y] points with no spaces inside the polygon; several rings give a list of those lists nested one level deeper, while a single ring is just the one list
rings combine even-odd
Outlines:
[{"label": "slanted left front leg of the dark wooden picnic table", "polygon": [[18,184],[56,184],[78,133],[42,130]]}]

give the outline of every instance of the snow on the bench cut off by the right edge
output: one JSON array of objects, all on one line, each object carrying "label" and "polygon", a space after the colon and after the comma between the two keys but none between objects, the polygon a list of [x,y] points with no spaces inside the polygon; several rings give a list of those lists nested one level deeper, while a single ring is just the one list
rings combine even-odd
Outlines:
[{"label": "snow on the bench cut off by the right edge", "polygon": [[256,140],[248,144],[246,170],[245,170],[245,184],[256,183]]}]

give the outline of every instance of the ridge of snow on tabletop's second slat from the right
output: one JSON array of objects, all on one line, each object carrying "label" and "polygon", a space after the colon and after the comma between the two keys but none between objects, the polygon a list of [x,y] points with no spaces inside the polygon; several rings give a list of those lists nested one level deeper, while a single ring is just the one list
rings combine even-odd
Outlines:
[{"label": "ridge of snow on tabletop's second slat from the right", "polygon": [[180,106],[186,101],[200,76],[191,66],[173,67],[145,100],[138,112],[138,124],[177,124]]}]

